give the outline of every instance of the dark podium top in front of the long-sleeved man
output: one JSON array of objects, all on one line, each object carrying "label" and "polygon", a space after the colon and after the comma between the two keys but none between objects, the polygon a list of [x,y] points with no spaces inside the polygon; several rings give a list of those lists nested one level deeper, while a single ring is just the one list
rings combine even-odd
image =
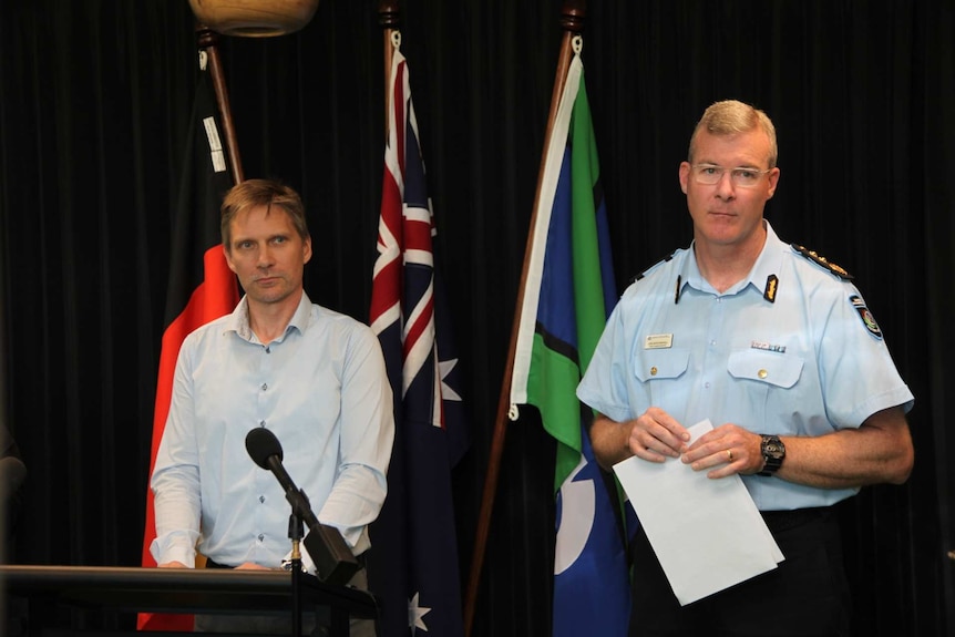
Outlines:
[{"label": "dark podium top in front of the long-sleeved man", "polygon": [[[28,599],[31,637],[82,634],[82,628],[49,625],[62,607],[132,614],[290,616],[292,612],[291,573],[284,571],[0,565],[0,589],[8,599]],[[331,635],[336,637],[349,634],[351,617],[378,619],[374,595],[364,590],[302,575],[299,595],[304,609],[316,606],[330,609]],[[182,635],[135,629],[109,634]]]}]

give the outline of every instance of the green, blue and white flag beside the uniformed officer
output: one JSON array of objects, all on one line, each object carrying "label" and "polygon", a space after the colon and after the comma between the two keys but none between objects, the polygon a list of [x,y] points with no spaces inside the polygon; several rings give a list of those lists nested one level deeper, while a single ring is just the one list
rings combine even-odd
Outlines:
[{"label": "green, blue and white flag beside the uniformed officer", "polygon": [[626,635],[629,577],[617,487],[589,444],[594,414],[576,397],[617,301],[606,207],[579,55],[545,148],[521,308],[512,418],[541,412],[557,439],[553,635]]}]

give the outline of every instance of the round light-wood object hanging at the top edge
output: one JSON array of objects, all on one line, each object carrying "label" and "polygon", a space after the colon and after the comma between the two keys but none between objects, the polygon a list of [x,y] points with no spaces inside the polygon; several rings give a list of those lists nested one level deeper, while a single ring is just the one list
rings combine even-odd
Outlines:
[{"label": "round light-wood object hanging at the top edge", "polygon": [[199,23],[223,35],[268,38],[308,24],[319,0],[189,0]]}]

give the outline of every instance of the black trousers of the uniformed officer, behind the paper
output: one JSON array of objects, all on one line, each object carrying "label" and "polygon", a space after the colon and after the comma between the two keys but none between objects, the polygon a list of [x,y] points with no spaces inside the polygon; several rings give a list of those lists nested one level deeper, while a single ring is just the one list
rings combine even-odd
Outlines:
[{"label": "black trousers of the uniformed officer, behind the paper", "polygon": [[639,530],[634,556],[630,637],[843,637],[852,598],[836,512],[763,512],[785,559],[773,571],[680,606]]}]

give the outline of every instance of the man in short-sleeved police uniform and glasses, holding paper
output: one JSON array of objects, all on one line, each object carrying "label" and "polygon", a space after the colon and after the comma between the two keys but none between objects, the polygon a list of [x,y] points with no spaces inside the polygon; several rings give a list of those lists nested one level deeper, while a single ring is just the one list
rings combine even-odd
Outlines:
[{"label": "man in short-sleeved police uniform and glasses, holding paper", "polygon": [[[631,455],[740,474],[785,561],[680,607],[643,532],[630,635],[844,635],[851,600],[831,506],[902,483],[914,398],[843,269],[763,218],[776,131],[718,102],[694,131],[680,186],[694,243],[631,285],[577,389],[605,469]],[[687,428],[715,429],[688,444]]]}]

